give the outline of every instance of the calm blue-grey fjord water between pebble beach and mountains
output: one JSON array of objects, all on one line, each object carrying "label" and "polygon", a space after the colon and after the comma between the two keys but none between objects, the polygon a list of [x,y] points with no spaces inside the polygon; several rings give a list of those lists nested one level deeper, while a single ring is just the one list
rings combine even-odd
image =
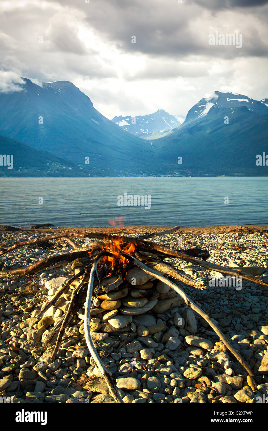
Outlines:
[{"label": "calm blue-grey fjord water between pebble beach and mountains", "polygon": [[[125,192],[151,195],[151,208],[118,206]],[[0,178],[0,225],[101,227],[121,216],[125,226],[268,225],[268,178]]]}]

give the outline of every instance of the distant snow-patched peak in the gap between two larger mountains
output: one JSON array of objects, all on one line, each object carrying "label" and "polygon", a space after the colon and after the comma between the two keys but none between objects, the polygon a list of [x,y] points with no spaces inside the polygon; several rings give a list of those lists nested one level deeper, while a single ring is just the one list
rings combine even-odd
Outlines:
[{"label": "distant snow-patched peak in the gap between two larger mountains", "polygon": [[184,118],[158,109],[157,112],[145,116],[116,116],[112,121],[129,133],[147,138],[156,132],[163,133],[178,127],[184,122]]}]

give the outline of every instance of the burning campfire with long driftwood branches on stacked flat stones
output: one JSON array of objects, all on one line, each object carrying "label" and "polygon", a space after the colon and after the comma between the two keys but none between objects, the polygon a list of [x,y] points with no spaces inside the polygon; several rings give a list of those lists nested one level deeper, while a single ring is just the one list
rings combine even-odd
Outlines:
[{"label": "burning campfire with long driftwood branches on stacked flat stones", "polygon": [[[151,242],[149,238],[175,232],[179,226],[155,234],[143,235],[139,237],[114,236],[109,234],[89,234],[87,232],[54,234],[35,240],[15,243],[11,247],[1,249],[0,256],[10,253],[19,247],[27,247],[43,243],[44,240],[62,240],[71,244],[74,249],[71,253],[63,253],[35,262],[24,267],[0,271],[0,275],[18,276],[34,275],[42,269],[54,269],[66,266],[71,263],[74,275],[69,278],[57,291],[54,297],[44,303],[39,315],[40,317],[52,306],[58,303],[60,297],[65,294],[70,286],[71,300],[59,321],[55,324],[46,339],[43,340],[42,347],[55,344],[51,356],[51,362],[59,350],[65,328],[74,318],[78,310],[85,306],[84,330],[85,340],[89,352],[99,367],[104,377],[111,395],[117,403],[122,403],[122,399],[114,384],[113,378],[105,369],[98,353],[98,342],[92,340],[90,333],[90,319],[98,316],[102,321],[108,322],[114,328],[129,328],[132,322],[132,315],[144,314],[145,312],[161,313],[186,303],[196,313],[203,317],[213,331],[219,336],[225,347],[243,365],[248,373],[248,384],[256,390],[253,370],[240,356],[240,353],[232,347],[228,339],[218,328],[215,322],[210,319],[199,306],[197,306],[182,288],[181,283],[205,289],[203,281],[186,275],[182,269],[174,268],[164,261],[167,257],[176,257],[194,265],[199,265],[209,270],[220,271],[224,275],[240,276],[242,279],[257,285],[268,287],[268,283],[252,275],[234,270],[228,266],[216,265],[207,262],[209,257],[207,250],[193,248],[187,250],[169,250],[159,244]],[[91,238],[83,247],[74,242],[74,238]],[[97,240],[94,242],[93,240]]]}]

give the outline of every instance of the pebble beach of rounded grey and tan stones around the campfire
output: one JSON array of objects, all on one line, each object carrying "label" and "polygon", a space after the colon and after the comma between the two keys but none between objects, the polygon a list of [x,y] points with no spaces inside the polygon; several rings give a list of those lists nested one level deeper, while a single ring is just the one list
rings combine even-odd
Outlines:
[{"label": "pebble beach of rounded grey and tan stones around the campfire", "polygon": [[[132,234],[150,229],[138,231],[135,228]],[[268,281],[266,228],[204,229],[184,228],[159,239],[156,237],[153,241],[173,249],[199,246],[209,250],[211,257],[208,260],[216,264],[262,267],[259,270],[262,274],[258,277]],[[126,232],[126,228],[123,231]],[[48,231],[3,232],[1,245],[33,239],[45,232]],[[58,240],[53,242],[55,247],[52,249],[28,247],[6,254],[2,259],[2,268],[18,268],[53,254],[71,251],[69,244]],[[147,278],[146,281],[141,279],[137,283],[139,286],[132,290],[140,290],[139,287],[143,291],[146,288],[154,289],[162,295],[162,301],[171,300],[173,308],[161,308],[160,300],[158,308],[150,308],[148,303],[153,301],[142,301],[131,290],[130,296],[129,293],[126,296],[121,292],[121,296],[96,299],[96,312],[92,314],[90,322],[97,350],[111,372],[123,401],[268,402],[268,290],[244,281],[238,288],[209,287],[209,277],[213,276],[214,279],[215,276],[220,277],[219,274],[211,274],[209,270],[180,259],[165,260],[175,267],[183,268],[193,278],[205,281],[207,287],[204,290],[184,284],[182,288],[217,322],[232,345],[249,363],[257,376],[258,389],[253,391],[250,388],[245,370],[229,355],[206,321],[185,306],[177,295],[173,296],[173,292],[163,284]],[[35,316],[44,301],[55,295],[62,282],[71,275],[73,269],[69,264],[63,269],[42,271],[32,278],[1,277],[2,402],[5,402],[5,397],[12,397],[10,400],[14,403],[114,402],[86,347],[83,308],[65,330],[54,362],[49,361],[52,349],[41,347],[42,341],[68,306],[74,286],[40,321]],[[130,283],[131,278],[129,287]],[[136,314],[135,310],[125,312],[125,315],[122,312],[118,314],[122,303],[126,310],[147,306],[148,311],[144,314]]]}]

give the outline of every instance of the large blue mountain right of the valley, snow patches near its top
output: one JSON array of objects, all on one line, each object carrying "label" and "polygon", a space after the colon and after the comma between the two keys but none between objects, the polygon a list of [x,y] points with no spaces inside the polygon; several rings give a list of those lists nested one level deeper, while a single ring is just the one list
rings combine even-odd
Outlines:
[{"label": "large blue mountain right of the valley, snow patches near its top", "polygon": [[256,155],[267,154],[267,105],[268,99],[215,91],[180,127],[151,142],[170,171],[175,154],[182,157],[182,175],[268,175],[268,166],[256,165]]}]

